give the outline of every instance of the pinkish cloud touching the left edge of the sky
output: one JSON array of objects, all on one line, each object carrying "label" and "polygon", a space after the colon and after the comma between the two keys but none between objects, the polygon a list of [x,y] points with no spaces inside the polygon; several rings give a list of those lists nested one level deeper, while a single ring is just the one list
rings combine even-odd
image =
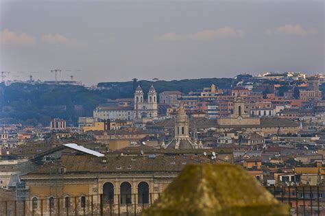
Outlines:
[{"label": "pinkish cloud touching the left edge of the sky", "polygon": [[23,45],[23,46],[31,46],[36,43],[34,37],[29,36],[26,33],[16,33],[12,32],[9,29],[3,29],[0,32],[0,43],[1,44],[11,44],[11,45]]}]

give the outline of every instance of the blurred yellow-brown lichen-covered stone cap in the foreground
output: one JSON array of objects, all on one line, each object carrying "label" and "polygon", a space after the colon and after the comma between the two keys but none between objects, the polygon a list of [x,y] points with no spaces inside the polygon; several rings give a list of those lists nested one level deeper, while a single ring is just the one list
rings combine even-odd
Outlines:
[{"label": "blurred yellow-brown lichen-covered stone cap in the foreground", "polygon": [[289,206],[239,166],[186,165],[142,215],[289,215]]}]

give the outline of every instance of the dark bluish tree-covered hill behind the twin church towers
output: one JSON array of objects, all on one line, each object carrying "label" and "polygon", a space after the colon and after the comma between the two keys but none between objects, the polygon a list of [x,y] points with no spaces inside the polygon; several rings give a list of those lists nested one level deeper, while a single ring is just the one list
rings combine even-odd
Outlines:
[{"label": "dark bluish tree-covered hill behind the twin church towers", "polygon": [[[232,79],[197,79],[149,82],[141,80],[147,93],[154,84],[156,91],[201,91],[217,84],[219,88],[230,88]],[[77,125],[78,117],[92,116],[93,109],[104,104],[106,99],[133,97],[135,82],[99,83],[103,90],[92,91],[83,86],[16,83],[0,84],[0,124],[24,123],[26,125],[49,125],[54,117],[67,119],[68,124]]]}]

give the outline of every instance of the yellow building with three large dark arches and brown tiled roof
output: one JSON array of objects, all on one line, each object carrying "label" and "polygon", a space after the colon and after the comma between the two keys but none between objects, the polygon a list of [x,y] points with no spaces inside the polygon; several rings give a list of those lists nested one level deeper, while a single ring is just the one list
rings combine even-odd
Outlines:
[{"label": "yellow building with three large dark arches and brown tiled roof", "polygon": [[[61,156],[48,162],[43,157],[35,158],[36,163],[44,164],[21,176],[29,190],[29,212],[49,215],[51,211],[54,215],[60,206],[64,215],[67,211],[74,214],[74,209],[87,215],[91,205],[104,202],[104,211],[111,205],[113,213],[125,213],[127,208],[139,213],[159,197],[185,165],[220,163],[219,154],[212,160],[210,152],[204,156],[194,149],[186,153],[148,148],[125,149],[104,157]],[[229,152],[222,154],[232,156]]]}]

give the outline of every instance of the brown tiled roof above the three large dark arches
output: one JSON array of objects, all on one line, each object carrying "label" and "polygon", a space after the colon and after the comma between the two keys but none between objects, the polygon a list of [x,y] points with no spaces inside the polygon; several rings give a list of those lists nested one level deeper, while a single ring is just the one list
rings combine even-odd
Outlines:
[{"label": "brown tiled roof above the three large dark arches", "polygon": [[53,163],[40,166],[23,178],[38,174],[50,174],[53,167],[62,166],[67,169],[65,175],[84,173],[136,173],[136,172],[179,172],[186,164],[217,163],[207,156],[106,156],[106,163],[103,158],[93,156],[62,156],[60,164],[53,166]]}]

